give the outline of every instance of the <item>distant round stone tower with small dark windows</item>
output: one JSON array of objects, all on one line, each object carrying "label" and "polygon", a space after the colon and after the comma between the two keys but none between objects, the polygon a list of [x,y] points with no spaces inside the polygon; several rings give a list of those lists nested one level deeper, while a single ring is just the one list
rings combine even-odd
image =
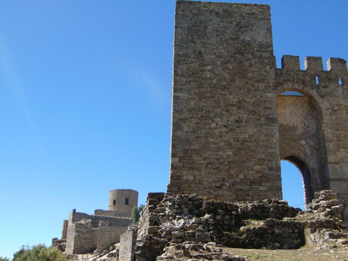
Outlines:
[{"label": "distant round stone tower with small dark windows", "polygon": [[109,194],[109,210],[114,216],[130,217],[133,206],[138,206],[138,191],[133,189],[114,189]]}]

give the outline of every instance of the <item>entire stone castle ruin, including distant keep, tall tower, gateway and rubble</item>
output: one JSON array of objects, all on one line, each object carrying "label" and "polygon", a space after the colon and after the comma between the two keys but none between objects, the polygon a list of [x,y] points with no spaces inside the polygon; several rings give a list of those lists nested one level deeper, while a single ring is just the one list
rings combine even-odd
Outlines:
[{"label": "entire stone castle ruin, including distant keep, tall tower, gateway and rubble", "polygon": [[[167,193],[148,194],[135,227],[134,190],[73,210],[65,253],[120,242],[108,260],[244,260],[213,247],[348,244],[347,64],[304,65],[276,68],[268,5],[176,1]],[[305,211],[282,200],[282,159],[302,173]]]}]

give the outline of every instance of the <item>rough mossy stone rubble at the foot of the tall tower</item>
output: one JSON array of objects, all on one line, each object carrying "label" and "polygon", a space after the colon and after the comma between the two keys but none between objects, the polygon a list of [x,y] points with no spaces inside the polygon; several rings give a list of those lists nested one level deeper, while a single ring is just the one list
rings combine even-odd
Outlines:
[{"label": "rough mossy stone rubble at the foot of the tall tower", "polygon": [[301,211],[278,199],[228,203],[196,194],[149,193],[138,228],[136,260],[234,258],[211,245],[298,249],[305,244],[347,244],[348,230],[339,219],[334,192],[315,196]]}]

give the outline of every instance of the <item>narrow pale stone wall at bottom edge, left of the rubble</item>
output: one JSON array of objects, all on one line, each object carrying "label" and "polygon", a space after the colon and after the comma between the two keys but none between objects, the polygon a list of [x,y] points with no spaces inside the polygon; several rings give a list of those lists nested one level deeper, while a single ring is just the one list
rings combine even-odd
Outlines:
[{"label": "narrow pale stone wall at bottom edge, left of the rubble", "polygon": [[120,236],[119,260],[133,261],[135,257],[134,248],[137,238],[136,227]]}]

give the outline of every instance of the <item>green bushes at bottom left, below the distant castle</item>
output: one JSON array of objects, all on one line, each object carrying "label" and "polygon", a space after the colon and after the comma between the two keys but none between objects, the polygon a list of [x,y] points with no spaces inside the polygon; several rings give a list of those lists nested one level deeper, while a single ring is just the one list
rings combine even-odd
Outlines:
[{"label": "green bushes at bottom left, below the distant castle", "polygon": [[13,261],[66,261],[66,258],[57,247],[38,244],[32,247],[23,245],[13,254]]}]

